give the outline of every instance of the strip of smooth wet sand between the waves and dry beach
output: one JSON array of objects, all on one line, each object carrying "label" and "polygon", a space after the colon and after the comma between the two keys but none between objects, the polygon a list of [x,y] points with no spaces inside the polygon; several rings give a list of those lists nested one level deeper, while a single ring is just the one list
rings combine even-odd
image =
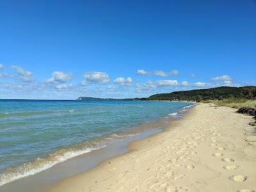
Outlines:
[{"label": "strip of smooth wet sand between the waves and dry beach", "polygon": [[[109,145],[107,145],[106,147],[99,148],[97,150],[92,150],[91,152],[73,157],[71,159],[68,159],[67,161],[58,163],[49,169],[43,170],[42,172],[33,175],[28,175],[27,177],[22,177],[21,179],[13,180],[12,182],[9,182],[1,186],[0,189],[3,191],[13,191],[19,189],[20,186],[23,186],[23,191],[35,191],[35,189],[37,189],[37,187],[39,186],[40,191],[48,191],[49,189],[52,188],[52,186],[54,186],[54,184],[60,182],[60,179],[62,180],[77,175],[79,173],[86,172],[87,170],[90,170],[91,168],[97,166],[97,164],[106,161],[106,159],[120,156],[126,152],[129,152],[128,146],[131,141],[148,138],[152,134],[156,134],[156,132],[162,132],[169,124],[172,124],[173,122],[179,120],[180,117],[183,118],[184,115],[189,113],[191,107],[193,108],[193,106],[195,105],[192,102],[190,103],[191,105],[184,107],[184,109],[186,110],[180,108],[179,111],[175,113],[175,115],[173,115],[173,113],[166,114],[165,116],[163,116],[163,118],[157,120],[156,122],[154,121],[140,124],[140,126],[138,126],[136,129],[141,129],[142,131],[139,131],[134,136],[123,138],[122,140],[117,140],[113,143],[109,143]],[[118,150],[116,148],[118,148]],[[112,152],[113,150],[116,151]],[[106,154],[105,151],[108,151],[111,155]],[[101,152],[103,152],[103,155],[100,155]],[[88,159],[93,159],[93,156],[95,156],[95,154],[97,158],[95,161],[96,163],[93,162],[87,164],[86,161]],[[81,161],[84,161],[84,163],[81,163]],[[82,168],[76,168],[76,164],[79,164],[79,166]],[[60,175],[60,173],[61,176],[58,176],[59,179],[57,180],[54,176],[52,176]],[[50,178],[52,180],[50,180]]]}]

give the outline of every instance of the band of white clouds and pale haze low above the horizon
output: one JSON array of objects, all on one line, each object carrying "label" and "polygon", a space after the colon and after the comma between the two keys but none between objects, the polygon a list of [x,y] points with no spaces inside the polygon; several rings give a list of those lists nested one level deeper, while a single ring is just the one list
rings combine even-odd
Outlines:
[{"label": "band of white clouds and pale haze low above the horizon", "polygon": [[[12,73],[14,71],[14,73]],[[131,98],[148,97],[154,93],[172,92],[177,90],[192,90],[195,88],[212,88],[216,86],[246,86],[255,82],[241,82],[225,74],[209,77],[208,81],[186,81],[191,74],[177,77],[178,70],[147,71],[138,69],[132,77],[113,77],[107,72],[84,72],[82,81],[75,81],[79,76],[73,72],[54,71],[51,77],[38,81],[33,73],[19,65],[0,65],[1,99],[76,99],[80,96]],[[141,76],[142,75],[142,76]],[[154,76],[154,81],[152,81]],[[144,77],[144,79],[142,78]],[[163,79],[164,78],[164,79]],[[195,75],[193,76],[195,78]],[[113,80],[111,80],[113,79]],[[9,95],[13,95],[10,97]],[[49,97],[51,95],[51,97]],[[62,96],[61,96],[62,95]]]}]

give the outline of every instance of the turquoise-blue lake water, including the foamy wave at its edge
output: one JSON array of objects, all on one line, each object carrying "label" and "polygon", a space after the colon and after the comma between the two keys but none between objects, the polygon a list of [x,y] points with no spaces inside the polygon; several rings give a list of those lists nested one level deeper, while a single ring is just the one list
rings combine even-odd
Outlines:
[{"label": "turquoise-blue lake water, including the foamy wave at its edge", "polygon": [[[184,102],[0,100],[0,185],[138,134]],[[149,127],[150,128],[150,127]]]}]

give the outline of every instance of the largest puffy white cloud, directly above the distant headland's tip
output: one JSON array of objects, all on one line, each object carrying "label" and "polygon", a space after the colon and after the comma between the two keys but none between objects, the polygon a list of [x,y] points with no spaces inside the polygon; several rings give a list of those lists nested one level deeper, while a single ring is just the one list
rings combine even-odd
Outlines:
[{"label": "largest puffy white cloud, directly above the distant headland's tip", "polygon": [[109,76],[104,72],[86,72],[85,81],[82,84],[106,84],[109,83]]}]

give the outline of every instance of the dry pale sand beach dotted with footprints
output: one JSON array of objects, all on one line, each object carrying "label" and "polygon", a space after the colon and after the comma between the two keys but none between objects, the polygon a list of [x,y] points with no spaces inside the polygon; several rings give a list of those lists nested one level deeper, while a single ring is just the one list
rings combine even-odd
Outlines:
[{"label": "dry pale sand beach dotted with footprints", "polygon": [[131,151],[52,191],[256,191],[252,117],[199,104]]}]

